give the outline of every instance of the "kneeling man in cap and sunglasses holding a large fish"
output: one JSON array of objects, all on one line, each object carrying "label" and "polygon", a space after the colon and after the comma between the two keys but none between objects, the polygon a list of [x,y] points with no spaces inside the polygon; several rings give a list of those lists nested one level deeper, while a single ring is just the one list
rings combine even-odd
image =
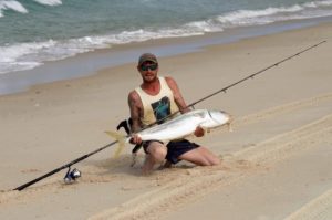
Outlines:
[{"label": "kneeling man in cap and sunglasses holding a large fish", "polygon": [[[177,111],[181,113],[189,111],[176,82],[172,77],[157,76],[159,65],[154,54],[142,54],[137,70],[141,73],[143,83],[128,94],[133,133],[156,121],[162,121]],[[203,135],[204,129],[197,127],[195,136],[200,137]],[[142,143],[142,139],[134,134],[131,143],[142,144],[147,154],[143,165],[144,174],[148,174],[155,164],[163,163],[165,158],[168,164],[187,160],[199,166],[211,166],[220,163],[219,158],[206,147],[186,139],[169,142],[167,145],[159,140]]]}]

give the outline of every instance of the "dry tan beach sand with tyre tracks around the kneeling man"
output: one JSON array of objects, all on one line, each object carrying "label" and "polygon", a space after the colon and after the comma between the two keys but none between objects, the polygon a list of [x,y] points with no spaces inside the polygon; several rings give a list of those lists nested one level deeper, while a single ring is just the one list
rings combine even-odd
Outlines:
[{"label": "dry tan beach sand with tyre tracks around the kneeling man", "polygon": [[220,166],[142,176],[144,153],[129,167],[132,146],[114,146],[74,165],[72,185],[64,169],[12,190],[113,142],[141,76],[131,63],[0,96],[0,219],[332,219],[332,23],[160,57],[159,75],[189,104],[321,41],[196,106],[234,116],[232,132],[191,138]]}]

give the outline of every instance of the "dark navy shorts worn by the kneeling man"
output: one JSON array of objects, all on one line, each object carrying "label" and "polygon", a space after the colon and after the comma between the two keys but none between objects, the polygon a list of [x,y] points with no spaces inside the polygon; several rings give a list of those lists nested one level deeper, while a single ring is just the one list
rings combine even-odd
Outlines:
[{"label": "dark navy shorts worn by the kneeling man", "polygon": [[[159,140],[144,142],[143,148],[144,148],[144,151],[146,154],[148,154],[146,148],[147,148],[147,146],[149,145],[151,142],[158,142],[158,143],[163,144]],[[191,143],[187,139],[181,139],[181,140],[169,142],[166,145],[166,147],[167,147],[166,159],[168,161],[170,161],[172,164],[176,164],[176,163],[180,161],[180,159],[178,159],[179,156],[181,156],[183,154],[185,154],[187,151],[190,151],[191,149],[195,149],[195,148],[199,147],[199,145],[197,145],[196,143]]]}]

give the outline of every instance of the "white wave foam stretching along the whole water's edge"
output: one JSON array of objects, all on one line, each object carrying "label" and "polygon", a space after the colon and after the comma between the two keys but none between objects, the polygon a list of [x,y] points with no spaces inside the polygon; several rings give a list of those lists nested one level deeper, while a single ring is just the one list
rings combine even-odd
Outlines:
[{"label": "white wave foam stretching along the whole water's edge", "polygon": [[[59,0],[35,1],[48,2],[49,4],[61,2]],[[0,9],[4,9],[3,2],[15,1],[0,0]],[[45,61],[62,60],[95,49],[111,48],[114,44],[143,42],[152,39],[203,35],[206,32],[221,32],[230,27],[257,25],[276,21],[332,15],[330,6],[332,6],[332,0],[313,1],[311,3],[294,4],[288,8],[238,10],[207,20],[189,22],[179,27],[156,30],[152,28],[137,29],[134,31],[123,31],[106,35],[90,35],[66,41],[50,40],[45,42],[4,45],[2,48],[0,46],[0,73],[29,70],[42,65]]]}]

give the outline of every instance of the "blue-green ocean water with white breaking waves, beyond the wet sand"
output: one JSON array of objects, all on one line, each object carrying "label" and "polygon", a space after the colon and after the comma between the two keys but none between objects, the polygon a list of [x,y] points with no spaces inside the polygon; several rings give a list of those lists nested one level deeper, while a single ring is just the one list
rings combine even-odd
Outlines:
[{"label": "blue-green ocean water with white breaking waves, beyond the wet sand", "polygon": [[332,0],[0,0],[0,75],[151,39],[332,15]]}]

